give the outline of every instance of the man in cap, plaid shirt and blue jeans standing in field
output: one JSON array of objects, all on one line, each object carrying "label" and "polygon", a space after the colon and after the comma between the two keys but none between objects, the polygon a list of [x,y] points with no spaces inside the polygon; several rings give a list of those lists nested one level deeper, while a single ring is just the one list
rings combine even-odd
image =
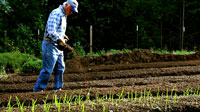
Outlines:
[{"label": "man in cap, plaid shirt and blue jeans standing in field", "polygon": [[76,0],[67,0],[54,9],[48,18],[46,29],[44,33],[44,40],[42,42],[42,60],[43,68],[33,87],[33,91],[43,91],[54,71],[54,90],[61,90],[63,87],[63,73],[65,70],[63,50],[73,49],[65,44],[69,38],[65,35],[67,26],[67,16],[78,13],[78,2]]}]

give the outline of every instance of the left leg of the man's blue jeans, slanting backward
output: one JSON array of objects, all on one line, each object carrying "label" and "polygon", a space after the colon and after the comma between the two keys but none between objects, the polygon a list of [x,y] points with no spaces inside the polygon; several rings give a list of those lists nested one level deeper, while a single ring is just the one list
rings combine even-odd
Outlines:
[{"label": "left leg of the man's blue jeans, slanting backward", "polygon": [[46,88],[59,53],[53,44],[43,41],[42,54],[43,68],[40,72],[36,85],[33,88],[34,91],[40,91]]}]

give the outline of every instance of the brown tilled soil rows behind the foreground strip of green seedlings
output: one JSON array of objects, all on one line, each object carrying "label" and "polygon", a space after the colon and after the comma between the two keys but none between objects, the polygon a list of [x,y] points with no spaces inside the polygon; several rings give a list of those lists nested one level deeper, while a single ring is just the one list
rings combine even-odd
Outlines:
[{"label": "brown tilled soil rows behind the foreground strip of green seedlings", "polygon": [[[1,107],[7,106],[10,97],[12,97],[11,104],[15,104],[16,96],[21,102],[25,101],[25,105],[31,105],[33,99],[37,99],[38,104],[43,104],[47,95],[48,101],[52,101],[55,94],[64,97],[66,93],[67,96],[70,96],[71,94],[78,95],[80,92],[85,96],[90,92],[91,100],[95,99],[97,93],[100,96],[112,93],[117,98],[122,91],[124,95],[135,92],[139,94],[141,91],[149,90],[151,90],[153,96],[158,94],[158,90],[160,95],[166,94],[167,91],[169,93],[176,92],[178,96],[183,95],[186,90],[191,88],[193,91],[199,90],[199,54],[161,56],[147,50],[130,54],[119,53],[114,56],[107,54],[101,57],[75,57],[66,62],[65,84],[61,91],[52,90],[53,76],[51,76],[44,92],[33,92],[32,89],[38,78],[38,73],[17,74],[7,79],[0,79],[0,105]],[[129,57],[136,55],[137,59],[130,59]],[[154,59],[154,56],[158,60]],[[122,58],[126,59],[120,61]],[[190,97],[188,98],[190,99]],[[199,99],[199,97],[196,99]],[[187,104],[190,103],[190,100],[187,99],[186,101],[188,102],[185,104],[185,110],[187,110]],[[193,108],[192,103],[194,102],[191,101],[190,108]],[[132,103],[129,102],[127,105],[132,105]],[[184,106],[182,103],[176,105],[178,106],[171,108],[171,111]],[[141,112],[149,110],[148,106],[144,106],[143,109],[137,106],[130,107],[137,108],[136,110]],[[200,110],[199,105],[194,105],[194,108],[195,111]],[[126,111],[126,109],[121,109],[121,111]],[[115,109],[112,108],[112,110],[115,112]]]}]

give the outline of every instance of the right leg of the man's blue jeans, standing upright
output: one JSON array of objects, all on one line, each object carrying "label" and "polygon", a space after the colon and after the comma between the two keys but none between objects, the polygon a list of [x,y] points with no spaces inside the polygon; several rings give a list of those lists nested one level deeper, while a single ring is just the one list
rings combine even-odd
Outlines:
[{"label": "right leg of the man's blue jeans, standing upright", "polygon": [[59,55],[55,68],[54,68],[54,89],[59,89],[63,87],[63,73],[65,71],[64,56]]}]

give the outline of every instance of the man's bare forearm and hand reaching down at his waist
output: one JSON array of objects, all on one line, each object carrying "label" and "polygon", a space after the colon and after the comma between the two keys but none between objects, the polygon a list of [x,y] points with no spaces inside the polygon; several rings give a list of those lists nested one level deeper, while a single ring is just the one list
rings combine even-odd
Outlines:
[{"label": "man's bare forearm and hand reaching down at his waist", "polygon": [[58,48],[59,50],[64,51],[64,50],[67,50],[67,49],[68,49],[70,52],[72,52],[74,55],[76,55],[76,52],[74,51],[74,49],[73,49],[70,45],[64,43],[63,40],[58,39],[58,40],[57,40],[57,43],[58,43],[57,48]]}]

